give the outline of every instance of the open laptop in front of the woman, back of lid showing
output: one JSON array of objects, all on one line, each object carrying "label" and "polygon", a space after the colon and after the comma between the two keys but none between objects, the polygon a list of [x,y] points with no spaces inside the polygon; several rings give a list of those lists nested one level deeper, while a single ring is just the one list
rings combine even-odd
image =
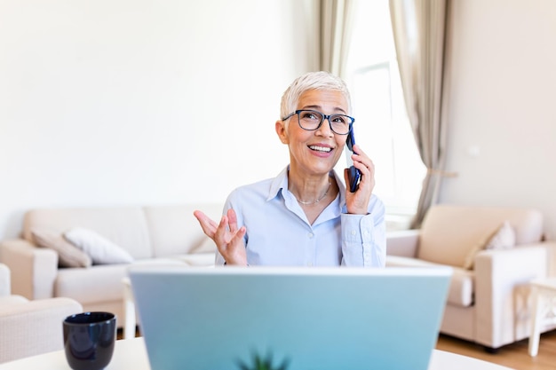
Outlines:
[{"label": "open laptop in front of the woman, back of lid showing", "polygon": [[450,276],[443,267],[130,270],[153,370],[426,370]]}]

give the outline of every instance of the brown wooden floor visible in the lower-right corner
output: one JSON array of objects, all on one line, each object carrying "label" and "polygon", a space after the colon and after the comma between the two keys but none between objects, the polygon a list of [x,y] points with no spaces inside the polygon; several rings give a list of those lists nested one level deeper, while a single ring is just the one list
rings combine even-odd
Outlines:
[{"label": "brown wooden floor visible in the lower-right corner", "polygon": [[487,353],[480,345],[441,335],[436,344],[436,349],[480,358],[515,370],[556,369],[556,330],[541,335],[538,355],[535,358],[528,354],[528,340],[506,345],[500,348],[496,354],[491,354]]}]

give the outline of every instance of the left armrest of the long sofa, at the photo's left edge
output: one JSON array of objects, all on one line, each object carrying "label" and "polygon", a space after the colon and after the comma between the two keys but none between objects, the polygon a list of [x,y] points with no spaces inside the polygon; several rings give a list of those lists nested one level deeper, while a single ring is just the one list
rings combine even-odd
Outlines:
[{"label": "left armrest of the long sofa, at the photo's left edge", "polygon": [[12,294],[28,299],[50,298],[58,275],[58,254],[52,249],[37,248],[28,240],[4,240],[0,259],[12,272]]}]

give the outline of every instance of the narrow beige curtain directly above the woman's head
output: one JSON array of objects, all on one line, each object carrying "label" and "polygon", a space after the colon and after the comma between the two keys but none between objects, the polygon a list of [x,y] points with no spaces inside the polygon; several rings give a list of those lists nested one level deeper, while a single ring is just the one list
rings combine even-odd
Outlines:
[{"label": "narrow beige curtain directly above the woman's head", "polygon": [[346,77],[346,59],[351,36],[353,0],[318,0],[318,69]]}]

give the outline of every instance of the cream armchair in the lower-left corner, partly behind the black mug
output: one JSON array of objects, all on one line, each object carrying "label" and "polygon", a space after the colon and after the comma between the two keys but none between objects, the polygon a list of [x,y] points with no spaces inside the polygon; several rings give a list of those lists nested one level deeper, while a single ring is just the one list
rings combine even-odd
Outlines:
[{"label": "cream armchair in the lower-left corner, partly behind the black mug", "polygon": [[10,270],[0,264],[0,364],[63,349],[62,321],[83,311],[69,298],[29,301],[11,295]]}]

